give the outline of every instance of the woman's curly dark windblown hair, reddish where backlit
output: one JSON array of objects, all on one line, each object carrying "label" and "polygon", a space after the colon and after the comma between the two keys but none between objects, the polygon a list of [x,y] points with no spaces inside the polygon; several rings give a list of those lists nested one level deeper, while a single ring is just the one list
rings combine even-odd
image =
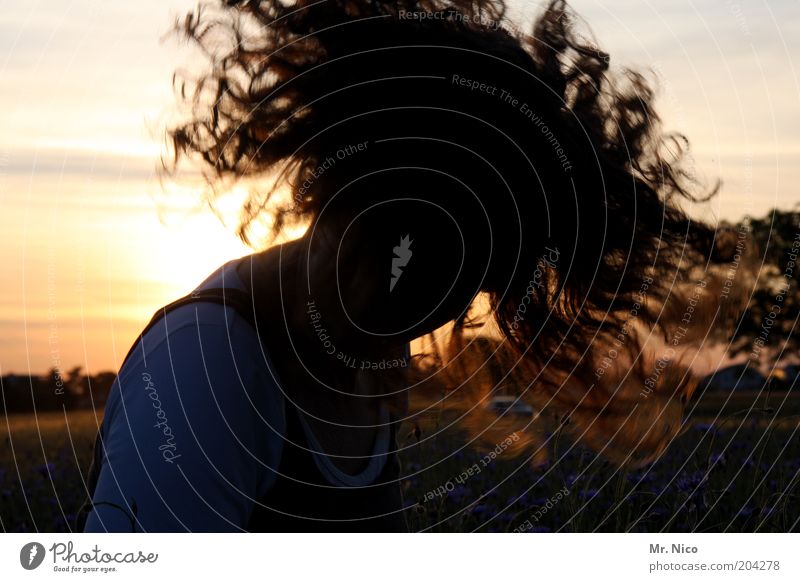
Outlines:
[{"label": "woman's curly dark windblown hair, reddish where backlit", "polygon": [[[503,338],[470,349],[470,319],[456,322],[435,372],[443,401],[492,442],[508,427],[484,404],[502,385],[641,462],[681,428],[695,382],[679,360],[719,325],[709,264],[726,256],[682,208],[700,200],[687,142],[661,130],[650,83],[612,74],[574,21],[560,1],[529,33],[500,0],[203,5],[178,29],[211,66],[179,85],[190,115],[169,132],[167,167],[273,180],[243,209],[245,241],[264,214],[277,233],[349,224],[409,192],[442,209],[486,266],[470,284]],[[399,240],[395,222],[373,234]],[[502,365],[478,382],[488,359]]]}]

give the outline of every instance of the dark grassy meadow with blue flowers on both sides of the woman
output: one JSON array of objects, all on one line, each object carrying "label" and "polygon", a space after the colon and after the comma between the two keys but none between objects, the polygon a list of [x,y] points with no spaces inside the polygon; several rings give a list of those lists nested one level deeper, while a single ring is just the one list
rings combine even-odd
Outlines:
[{"label": "dark grassy meadow with blue flowers on both sides of the woman", "polygon": [[[780,403],[782,396],[770,398]],[[790,396],[784,401],[790,406],[778,406],[780,416],[768,401],[753,408],[752,397],[701,402],[666,454],[635,471],[558,433],[550,439],[550,461],[540,467],[502,452],[484,464],[457,431],[438,430],[428,419],[419,433],[412,427],[399,433],[409,525],[413,531],[800,531],[800,437],[798,417],[787,415],[797,405]],[[0,422],[2,530],[70,531],[98,420],[76,411]]]}]

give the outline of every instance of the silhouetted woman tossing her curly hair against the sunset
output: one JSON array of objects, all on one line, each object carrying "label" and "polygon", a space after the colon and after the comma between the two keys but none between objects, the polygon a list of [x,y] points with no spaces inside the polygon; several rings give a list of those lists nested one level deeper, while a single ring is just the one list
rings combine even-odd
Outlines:
[{"label": "silhouetted woman tossing her curly hair against the sunset", "polygon": [[[87,531],[404,529],[408,345],[454,321],[460,345],[479,295],[522,397],[620,462],[663,450],[692,383],[673,368],[632,396],[641,331],[674,340],[687,261],[720,257],[678,205],[694,199],[682,141],[650,87],[611,76],[563,2],[531,35],[489,0],[227,1],[178,28],[211,67],[180,87],[171,169],[271,182],[246,241],[264,216],[308,228],[143,333],[107,405]],[[490,435],[491,387],[472,387],[449,381],[448,404]]]}]

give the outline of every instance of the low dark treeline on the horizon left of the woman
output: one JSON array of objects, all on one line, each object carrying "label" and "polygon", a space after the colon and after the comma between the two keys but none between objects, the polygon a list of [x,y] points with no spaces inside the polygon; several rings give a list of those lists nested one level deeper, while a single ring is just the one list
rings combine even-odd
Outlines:
[{"label": "low dark treeline on the horizon left of the woman", "polygon": [[0,377],[3,413],[43,412],[97,407],[102,410],[117,375],[86,375],[80,366],[44,375],[7,374]]}]

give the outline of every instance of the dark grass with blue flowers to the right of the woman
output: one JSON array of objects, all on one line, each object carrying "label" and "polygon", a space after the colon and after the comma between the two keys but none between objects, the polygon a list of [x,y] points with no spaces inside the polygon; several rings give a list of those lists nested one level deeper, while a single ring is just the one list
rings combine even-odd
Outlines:
[{"label": "dark grass with blue flowers to the right of the woman", "polygon": [[[705,395],[655,463],[611,465],[556,430],[549,461],[487,466],[457,433],[422,430],[406,455],[414,531],[800,531],[800,395]],[[777,410],[777,412],[776,412]],[[425,437],[436,435],[433,438]],[[459,480],[478,463],[477,476]],[[448,485],[448,483],[450,483]],[[442,487],[449,489],[445,494]],[[433,494],[432,494],[433,492]]]}]

